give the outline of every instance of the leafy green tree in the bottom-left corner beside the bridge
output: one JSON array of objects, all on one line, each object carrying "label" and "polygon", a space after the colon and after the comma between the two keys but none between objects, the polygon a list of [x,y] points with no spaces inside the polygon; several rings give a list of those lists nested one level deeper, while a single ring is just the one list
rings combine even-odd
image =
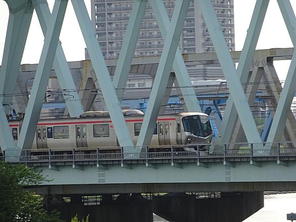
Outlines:
[{"label": "leafy green tree in the bottom-left corner beside the bridge", "polygon": [[42,197],[25,188],[47,181],[41,171],[0,161],[0,221],[62,222],[60,212],[43,209]]}]

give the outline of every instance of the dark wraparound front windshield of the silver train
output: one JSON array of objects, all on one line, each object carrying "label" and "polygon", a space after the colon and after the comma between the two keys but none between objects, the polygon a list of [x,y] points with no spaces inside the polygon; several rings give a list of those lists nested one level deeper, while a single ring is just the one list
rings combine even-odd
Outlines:
[{"label": "dark wraparound front windshield of the silver train", "polygon": [[182,118],[185,132],[195,136],[207,137],[212,133],[210,118],[208,116],[188,116]]}]

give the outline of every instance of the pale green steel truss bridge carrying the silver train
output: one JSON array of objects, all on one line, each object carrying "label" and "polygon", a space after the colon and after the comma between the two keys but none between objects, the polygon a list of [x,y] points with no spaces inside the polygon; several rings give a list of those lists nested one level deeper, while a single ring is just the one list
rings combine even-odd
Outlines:
[{"label": "pale green steel truss bridge carrying the silver train", "polygon": [[[82,154],[71,149],[71,154],[58,155],[51,153],[31,156],[30,150],[40,116],[46,86],[52,67],[54,67],[61,88],[75,89],[75,84],[67,64],[62,45],[59,41],[63,19],[68,1],[56,0],[52,11],[44,0],[5,0],[10,16],[4,49],[4,59],[0,69],[0,94],[14,93],[19,74],[21,59],[30,27],[33,11],[36,11],[43,34],[44,45],[40,61],[26,108],[18,143],[15,144],[6,110],[2,104],[10,104],[10,96],[0,97],[0,146],[5,152],[2,159],[12,162],[25,162],[42,169],[44,175],[53,179],[44,185],[53,193],[126,193],[126,192],[184,192],[184,191],[264,191],[264,190],[296,190],[295,147],[275,148],[273,143],[281,141],[284,135],[287,141],[295,139],[295,119],[291,116],[290,106],[296,87],[296,51],[287,53],[291,59],[287,78],[283,87],[280,83],[272,86],[274,104],[277,106],[267,137],[263,143],[253,118],[250,104],[254,102],[258,85],[250,90],[242,85],[249,82],[260,82],[265,71],[269,81],[278,80],[273,58],[277,57],[277,49],[270,49],[271,56],[263,60],[254,59],[255,49],[261,32],[264,17],[268,10],[269,0],[257,0],[244,46],[239,53],[237,69],[233,65],[233,52],[229,52],[221,26],[218,22],[211,1],[197,0],[209,30],[216,57],[221,65],[229,87],[230,97],[219,131],[223,135],[218,144],[229,143],[233,130],[237,127],[237,119],[241,124],[238,133],[244,132],[251,148],[230,150],[224,145],[213,153],[198,152],[159,152],[147,153],[144,150],[150,144],[158,114],[172,69],[175,72],[186,108],[189,112],[201,111],[199,101],[191,86],[185,62],[190,59],[182,57],[178,43],[182,32],[190,0],[177,0],[171,21],[169,20],[163,1],[134,0],[129,23],[125,33],[119,59],[114,71],[113,80],[98,44],[92,23],[89,19],[84,1],[71,0],[77,21],[83,34],[93,66],[93,77],[102,90],[107,109],[122,148],[118,154]],[[145,8],[152,5],[160,31],[164,39],[162,56],[159,58],[155,81],[147,105],[145,117],[136,146],[133,145],[124,117],[120,101],[123,97],[127,77],[131,69],[132,58],[140,32]],[[277,0],[284,22],[293,45],[296,44],[296,18],[290,1]],[[284,52],[285,49],[281,50]],[[234,53],[235,54],[235,53]],[[237,55],[237,54],[236,54]],[[194,56],[194,55],[193,55]],[[196,55],[195,55],[196,56]],[[199,55],[203,63],[209,54]],[[150,58],[143,61],[149,62]],[[252,75],[250,76],[250,70]],[[71,117],[83,113],[78,93],[73,93],[73,100],[66,100]],[[240,125],[239,125],[240,126]],[[238,127],[239,129],[239,127]],[[253,144],[253,145],[252,145]],[[249,147],[248,145],[247,147]],[[278,145],[276,145],[278,147]],[[219,148],[219,147],[218,147]],[[228,148],[228,147],[227,147]],[[170,149],[170,147],[169,147]],[[25,153],[24,153],[25,152]],[[132,158],[130,158],[130,156]],[[73,169],[74,168],[74,169]],[[40,188],[42,189],[42,188]],[[48,190],[47,190],[48,191]]]}]

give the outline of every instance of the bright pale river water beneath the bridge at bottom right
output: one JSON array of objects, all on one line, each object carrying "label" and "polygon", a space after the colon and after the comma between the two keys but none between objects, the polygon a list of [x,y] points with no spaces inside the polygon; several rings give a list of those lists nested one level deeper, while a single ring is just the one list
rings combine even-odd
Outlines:
[{"label": "bright pale river water beneath the bridge at bottom right", "polygon": [[[243,222],[287,222],[287,213],[296,213],[296,193],[264,196],[264,207]],[[155,222],[167,220],[154,215]]]}]

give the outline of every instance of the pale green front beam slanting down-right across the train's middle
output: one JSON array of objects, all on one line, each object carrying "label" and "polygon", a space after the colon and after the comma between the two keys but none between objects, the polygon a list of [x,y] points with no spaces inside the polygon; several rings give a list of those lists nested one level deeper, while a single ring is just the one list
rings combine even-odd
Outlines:
[{"label": "pale green front beam slanting down-right across the train's middle", "polygon": [[134,145],[121,112],[121,105],[116,96],[103,53],[96,39],[84,1],[72,0],[72,5],[87,46],[97,81],[101,86],[118,142],[120,146],[124,147],[124,152],[134,152]]}]

